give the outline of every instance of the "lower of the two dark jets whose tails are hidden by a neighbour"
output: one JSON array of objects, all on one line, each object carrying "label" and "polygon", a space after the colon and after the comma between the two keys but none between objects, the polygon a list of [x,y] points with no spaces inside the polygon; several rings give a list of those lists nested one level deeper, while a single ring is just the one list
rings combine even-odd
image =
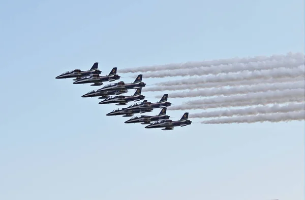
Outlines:
[{"label": "lower of the two dark jets whose tails are hidden by a neighbour", "polygon": [[134,105],[131,105],[127,108],[121,108],[113,110],[112,112],[109,112],[106,114],[107,116],[115,116],[115,115],[123,115],[124,117],[131,117],[135,113],[145,113],[145,112],[151,112],[153,111],[153,108],[150,106],[150,102],[147,102],[147,100],[144,100],[142,103],[136,103]]}]

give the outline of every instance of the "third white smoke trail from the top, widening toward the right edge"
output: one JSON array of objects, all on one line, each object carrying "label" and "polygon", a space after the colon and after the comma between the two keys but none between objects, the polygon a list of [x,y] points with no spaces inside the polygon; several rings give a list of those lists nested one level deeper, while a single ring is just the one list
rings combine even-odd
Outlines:
[{"label": "third white smoke trail from the top, widening toward the right edge", "polygon": [[204,84],[204,83],[220,83],[220,82],[232,82],[243,81],[249,79],[269,79],[269,78],[281,78],[281,77],[305,77],[304,65],[295,67],[292,69],[277,68],[272,70],[261,71],[242,71],[238,73],[226,73],[212,76],[203,76],[198,78],[186,78],[177,81],[167,81],[157,83],[159,86],[173,86],[173,85],[192,85],[192,84]]}]

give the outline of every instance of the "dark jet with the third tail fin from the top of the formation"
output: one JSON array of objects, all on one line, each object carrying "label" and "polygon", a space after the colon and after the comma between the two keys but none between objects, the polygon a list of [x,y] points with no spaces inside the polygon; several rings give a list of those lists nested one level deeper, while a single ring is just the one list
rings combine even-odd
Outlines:
[{"label": "dark jet with the third tail fin from the top of the formation", "polygon": [[139,74],[135,81],[131,84],[125,84],[123,81],[118,82],[116,84],[109,84],[99,89],[99,91],[115,91],[115,90],[129,90],[129,89],[139,89],[146,86],[144,82],[142,82],[142,74]]}]

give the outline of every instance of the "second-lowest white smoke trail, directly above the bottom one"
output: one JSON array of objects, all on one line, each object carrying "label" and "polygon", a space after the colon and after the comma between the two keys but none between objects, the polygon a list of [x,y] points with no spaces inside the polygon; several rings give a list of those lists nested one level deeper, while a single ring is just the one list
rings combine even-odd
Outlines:
[{"label": "second-lowest white smoke trail, directly above the bottom one", "polygon": [[217,110],[210,112],[201,112],[190,114],[189,118],[207,118],[207,117],[221,117],[221,116],[242,116],[242,115],[256,115],[256,114],[266,114],[266,113],[276,113],[276,112],[291,112],[304,110],[305,103],[297,104],[290,103],[288,105],[280,106],[278,104],[272,106],[257,106],[244,109],[230,109],[230,110]]}]

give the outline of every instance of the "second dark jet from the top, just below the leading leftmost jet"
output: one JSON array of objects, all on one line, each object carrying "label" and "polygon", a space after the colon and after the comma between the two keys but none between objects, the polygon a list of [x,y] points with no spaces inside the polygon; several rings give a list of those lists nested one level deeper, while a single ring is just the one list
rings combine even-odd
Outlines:
[{"label": "second dark jet from the top, just below the leading leftmost jet", "polygon": [[91,86],[101,86],[103,85],[103,82],[111,82],[115,81],[120,78],[119,75],[116,74],[117,67],[113,67],[108,75],[100,76],[99,74],[93,74],[90,75],[90,77],[84,77],[79,79],[76,82],[73,82],[73,84],[89,84],[93,83]]}]

